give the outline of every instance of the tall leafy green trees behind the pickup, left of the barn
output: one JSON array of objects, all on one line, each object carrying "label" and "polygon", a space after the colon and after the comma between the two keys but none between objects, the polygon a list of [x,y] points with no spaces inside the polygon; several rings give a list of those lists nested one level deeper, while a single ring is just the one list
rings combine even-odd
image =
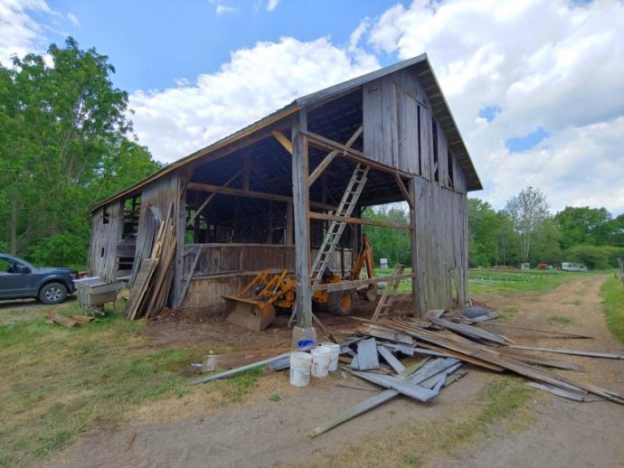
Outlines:
[{"label": "tall leafy green trees behind the pickup, left of the barn", "polygon": [[0,64],[0,251],[85,265],[90,206],[161,167],[137,144],[113,73],[72,38]]}]

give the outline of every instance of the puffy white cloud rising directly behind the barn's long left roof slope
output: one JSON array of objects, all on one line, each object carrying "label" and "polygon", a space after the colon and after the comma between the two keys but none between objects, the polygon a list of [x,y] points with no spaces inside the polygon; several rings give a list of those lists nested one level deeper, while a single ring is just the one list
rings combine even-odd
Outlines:
[{"label": "puffy white cloud rising directly behind the barn's long left roof slope", "polygon": [[[268,66],[267,64],[270,64]],[[258,42],[232,53],[193,84],[137,91],[130,106],[137,136],[156,159],[172,162],[266,116],[309,92],[379,67],[372,55],[350,53],[327,38]]]}]

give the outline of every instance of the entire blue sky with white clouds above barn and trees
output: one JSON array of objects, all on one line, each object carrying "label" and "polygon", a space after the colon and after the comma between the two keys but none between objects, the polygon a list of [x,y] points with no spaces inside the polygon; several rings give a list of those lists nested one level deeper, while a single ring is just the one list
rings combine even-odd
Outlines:
[{"label": "entire blue sky with white clouds above barn and trees", "polygon": [[624,4],[0,0],[0,62],[71,34],[172,162],[293,98],[427,52],[485,190],[624,212]]}]

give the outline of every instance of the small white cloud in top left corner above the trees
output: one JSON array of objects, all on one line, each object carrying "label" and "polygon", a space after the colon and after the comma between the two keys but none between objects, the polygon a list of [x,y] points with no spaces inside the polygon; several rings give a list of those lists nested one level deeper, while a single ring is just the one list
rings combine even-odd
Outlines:
[{"label": "small white cloud in top left corner above the trees", "polygon": [[37,11],[50,14],[52,10],[43,0],[0,1],[0,63],[7,66],[13,55],[44,48],[42,26],[28,14]]}]

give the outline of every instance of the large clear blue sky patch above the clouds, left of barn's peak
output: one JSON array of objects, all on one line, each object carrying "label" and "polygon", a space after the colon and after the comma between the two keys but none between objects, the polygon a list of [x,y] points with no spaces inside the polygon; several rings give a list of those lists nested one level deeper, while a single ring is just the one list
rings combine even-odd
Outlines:
[{"label": "large clear blue sky patch above the clouds, left of barn's peak", "polygon": [[[259,41],[275,42],[282,36],[312,41],[328,35],[332,42],[345,44],[363,18],[378,16],[394,3],[287,1],[270,12],[266,1],[254,0],[227,4],[209,0],[52,0],[48,5],[74,14],[80,24],[67,22],[66,30],[81,46],[95,45],[107,53],[117,68],[115,83],[134,91],[165,88],[173,86],[176,79],[193,79],[218,70],[230,59],[231,51]],[[218,5],[236,11],[218,14]],[[380,55],[382,64],[396,60],[392,53]]]}]

